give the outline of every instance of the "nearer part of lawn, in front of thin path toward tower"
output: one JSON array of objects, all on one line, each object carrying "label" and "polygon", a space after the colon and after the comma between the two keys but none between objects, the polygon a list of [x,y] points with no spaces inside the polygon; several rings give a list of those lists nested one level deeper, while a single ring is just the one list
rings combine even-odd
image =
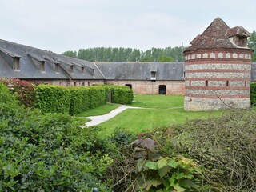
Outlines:
[{"label": "nearer part of lawn, in front of thin path toward tower", "polygon": [[187,112],[183,109],[128,109],[99,126],[104,129],[105,134],[111,134],[117,127],[139,133],[160,126],[180,124],[186,122],[187,119],[210,118],[221,113],[221,111]]}]

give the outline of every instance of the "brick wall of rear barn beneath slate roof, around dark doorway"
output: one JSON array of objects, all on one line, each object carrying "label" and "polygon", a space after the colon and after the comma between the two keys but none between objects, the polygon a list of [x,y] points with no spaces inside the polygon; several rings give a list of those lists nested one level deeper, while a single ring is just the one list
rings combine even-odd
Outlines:
[{"label": "brick wall of rear barn beneath slate roof, around dark doorway", "polygon": [[122,85],[130,84],[134,94],[159,94],[159,86],[166,86],[166,94],[184,95],[184,81],[125,81],[125,80],[106,80],[106,84]]}]

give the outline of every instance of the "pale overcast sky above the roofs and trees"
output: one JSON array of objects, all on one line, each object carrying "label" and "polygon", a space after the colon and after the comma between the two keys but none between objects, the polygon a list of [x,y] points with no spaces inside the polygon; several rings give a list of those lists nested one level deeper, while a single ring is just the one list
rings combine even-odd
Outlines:
[{"label": "pale overcast sky above the roofs and trees", "polygon": [[0,39],[51,50],[189,46],[220,17],[256,30],[255,0],[0,0]]}]

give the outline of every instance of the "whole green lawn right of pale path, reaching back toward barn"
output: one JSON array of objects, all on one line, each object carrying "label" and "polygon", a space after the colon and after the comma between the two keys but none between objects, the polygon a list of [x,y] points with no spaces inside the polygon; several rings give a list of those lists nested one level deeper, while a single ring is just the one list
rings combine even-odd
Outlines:
[{"label": "whole green lawn right of pale path, reaching back toward barn", "polygon": [[[221,111],[187,112],[183,110],[183,99],[183,96],[172,95],[135,95],[134,103],[131,106],[141,106],[149,109],[125,110],[99,126],[105,130],[104,134],[111,134],[116,127],[139,133],[159,126],[171,126],[186,122],[187,119],[209,118],[222,113]],[[94,113],[94,115],[96,114]],[[86,117],[86,115],[82,116]]]}]

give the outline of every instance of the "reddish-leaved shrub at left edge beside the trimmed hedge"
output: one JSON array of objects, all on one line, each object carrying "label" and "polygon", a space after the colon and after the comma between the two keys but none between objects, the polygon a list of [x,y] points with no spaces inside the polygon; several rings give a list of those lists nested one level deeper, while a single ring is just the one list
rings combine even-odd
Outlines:
[{"label": "reddish-leaved shrub at left edge beside the trimmed hedge", "polygon": [[34,106],[35,87],[30,82],[18,78],[2,78],[0,82],[5,84],[11,93],[18,93],[18,100],[22,105]]}]

